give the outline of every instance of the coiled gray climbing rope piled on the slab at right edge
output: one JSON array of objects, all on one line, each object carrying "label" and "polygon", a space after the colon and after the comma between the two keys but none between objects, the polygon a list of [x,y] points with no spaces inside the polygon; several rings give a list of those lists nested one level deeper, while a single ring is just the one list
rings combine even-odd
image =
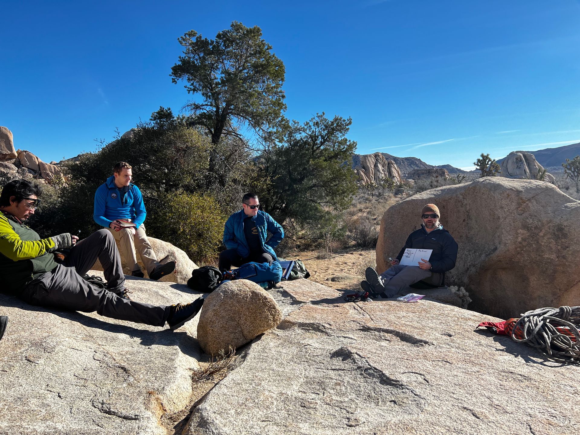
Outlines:
[{"label": "coiled gray climbing rope piled on the slab at right edge", "polygon": [[506,323],[514,341],[537,347],[550,360],[580,362],[580,307],[540,308],[514,320]]}]

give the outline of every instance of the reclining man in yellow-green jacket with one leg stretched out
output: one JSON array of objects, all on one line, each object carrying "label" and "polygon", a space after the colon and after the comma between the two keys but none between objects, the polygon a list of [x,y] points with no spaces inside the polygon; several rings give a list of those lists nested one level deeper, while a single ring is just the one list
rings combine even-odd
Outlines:
[{"label": "reclining man in yellow-green jacket with one leg stretched out", "polygon": [[[40,202],[39,187],[27,180],[13,180],[0,194],[0,291],[31,305],[55,307],[128,320],[154,326],[165,322],[182,326],[200,311],[204,299],[186,305],[153,306],[130,300],[125,289],[121,258],[111,233],[99,230],[84,240],[70,233],[41,239],[26,221]],[[64,260],[55,256],[70,249]],[[104,269],[106,288],[82,276],[97,258]]]}]

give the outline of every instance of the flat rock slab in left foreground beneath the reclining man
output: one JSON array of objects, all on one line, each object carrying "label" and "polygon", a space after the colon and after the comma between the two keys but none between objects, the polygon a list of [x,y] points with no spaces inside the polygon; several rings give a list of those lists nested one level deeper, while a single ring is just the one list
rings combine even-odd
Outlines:
[{"label": "flat rock slab in left foreground beneath the reclining man", "polygon": [[[127,287],[153,305],[199,296],[163,282],[128,278]],[[0,314],[10,318],[0,342],[2,434],[165,435],[162,414],[189,404],[197,319],[170,331],[4,295]]]}]

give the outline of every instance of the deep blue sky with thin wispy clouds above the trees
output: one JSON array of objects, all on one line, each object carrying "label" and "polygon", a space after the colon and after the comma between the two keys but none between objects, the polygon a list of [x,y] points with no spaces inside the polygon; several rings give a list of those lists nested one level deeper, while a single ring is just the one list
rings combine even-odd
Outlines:
[{"label": "deep blue sky with thin wispy clouds above the trees", "polygon": [[286,67],[287,117],[352,117],[358,153],[471,166],[580,142],[578,0],[10,2],[0,125],[42,160],[93,151],[159,106],[177,37],[238,20]]}]

